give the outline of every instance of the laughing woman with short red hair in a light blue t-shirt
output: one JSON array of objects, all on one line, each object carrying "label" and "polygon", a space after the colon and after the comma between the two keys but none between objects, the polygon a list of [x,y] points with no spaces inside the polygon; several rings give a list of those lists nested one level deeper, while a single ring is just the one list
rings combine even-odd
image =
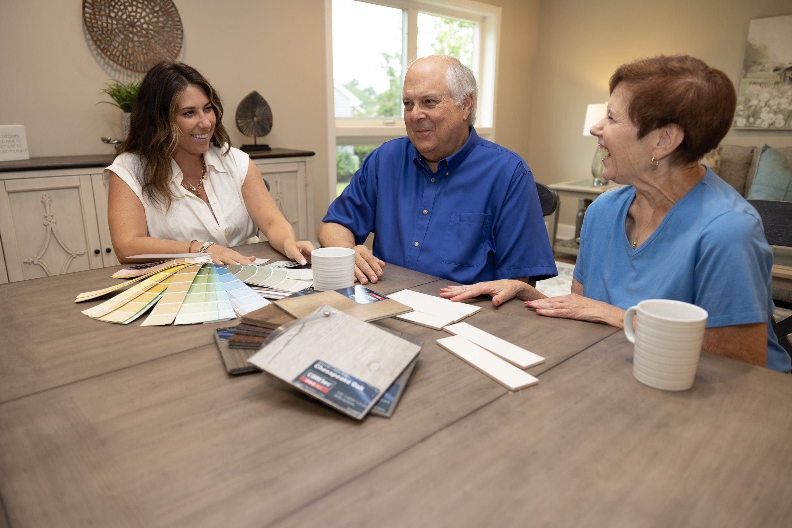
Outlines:
[{"label": "laughing woman with short red hair in a light blue t-shirt", "polygon": [[699,160],[731,126],[729,78],[687,55],[624,64],[610,82],[600,139],[603,177],[625,187],[586,212],[572,293],[546,298],[516,280],[445,287],[461,301],[524,300],[536,313],[621,327],[646,298],[691,302],[708,313],[703,349],[788,372],[770,326],[772,253],[756,210]]}]

